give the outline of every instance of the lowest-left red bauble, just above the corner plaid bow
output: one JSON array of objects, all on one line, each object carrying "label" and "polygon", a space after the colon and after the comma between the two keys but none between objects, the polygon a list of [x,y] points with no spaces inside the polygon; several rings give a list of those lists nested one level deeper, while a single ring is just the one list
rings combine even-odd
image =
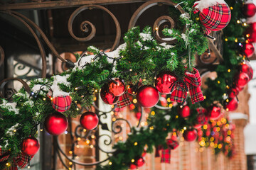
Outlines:
[{"label": "lowest-left red bauble, just above the corner plaid bow", "polygon": [[35,137],[26,137],[21,143],[21,152],[33,156],[38,152],[40,145]]}]

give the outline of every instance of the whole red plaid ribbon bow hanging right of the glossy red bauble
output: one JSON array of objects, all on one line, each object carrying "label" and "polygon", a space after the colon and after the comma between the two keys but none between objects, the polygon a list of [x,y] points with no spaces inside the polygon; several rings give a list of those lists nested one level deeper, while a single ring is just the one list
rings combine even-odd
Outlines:
[{"label": "whole red plaid ribbon bow hanging right of the glossy red bauble", "polygon": [[[188,91],[191,96],[192,103],[203,101],[203,93],[201,91],[201,77],[197,69],[193,68],[193,72],[186,72],[183,80],[177,80],[171,88],[171,101],[181,103],[181,106],[186,101]],[[189,90],[188,90],[189,89]]]}]

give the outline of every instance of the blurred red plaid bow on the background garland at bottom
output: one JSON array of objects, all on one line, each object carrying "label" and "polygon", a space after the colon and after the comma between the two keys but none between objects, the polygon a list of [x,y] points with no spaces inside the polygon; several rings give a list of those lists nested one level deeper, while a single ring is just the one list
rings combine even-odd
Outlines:
[{"label": "blurred red plaid bow on the background garland at bottom", "polygon": [[176,149],[178,147],[178,142],[176,140],[166,140],[166,144],[168,146],[167,149],[164,149],[164,147],[159,146],[156,147],[156,154],[155,157],[160,157],[160,151],[161,151],[161,163],[171,163],[171,150]]}]

